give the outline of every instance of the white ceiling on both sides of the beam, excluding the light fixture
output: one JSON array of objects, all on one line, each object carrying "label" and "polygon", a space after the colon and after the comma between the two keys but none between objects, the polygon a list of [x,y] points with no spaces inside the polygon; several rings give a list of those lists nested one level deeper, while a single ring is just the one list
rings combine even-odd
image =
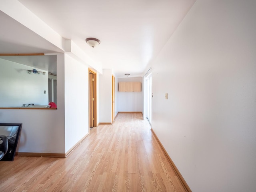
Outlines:
[{"label": "white ceiling on both sides of the beam, excluding the light fixture", "polygon": [[[142,76],[195,0],[19,0],[60,36],[111,68]],[[63,52],[0,12],[0,53]],[[4,34],[4,35],[3,35]],[[98,38],[96,48],[86,44]],[[32,39],[32,40],[31,40]]]}]

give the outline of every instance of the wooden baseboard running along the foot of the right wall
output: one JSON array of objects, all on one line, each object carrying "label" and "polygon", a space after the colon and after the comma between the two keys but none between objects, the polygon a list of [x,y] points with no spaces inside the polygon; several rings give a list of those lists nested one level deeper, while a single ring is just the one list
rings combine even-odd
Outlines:
[{"label": "wooden baseboard running along the foot of the right wall", "polygon": [[162,143],[160,142],[160,140],[158,139],[158,137],[156,136],[156,133],[154,132],[154,130],[151,128],[151,132],[153,133],[153,136],[156,138],[157,142],[159,143],[159,145],[161,146],[162,150],[164,151],[165,156],[167,157],[167,159],[169,160],[170,164],[172,165],[172,168],[174,169],[174,171],[176,172],[180,182],[182,183],[182,185],[184,186],[184,189],[187,192],[192,192],[192,190],[189,188],[188,184],[186,183],[186,181],[184,180],[184,178],[182,177],[182,175],[180,174],[178,168],[175,166],[174,162],[172,161],[172,159],[170,158],[170,156],[168,155],[167,151],[165,150],[164,146],[162,145]]}]

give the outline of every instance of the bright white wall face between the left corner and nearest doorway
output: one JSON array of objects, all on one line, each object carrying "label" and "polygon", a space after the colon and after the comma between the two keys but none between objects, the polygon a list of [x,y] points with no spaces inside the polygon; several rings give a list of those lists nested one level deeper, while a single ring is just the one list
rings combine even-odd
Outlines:
[{"label": "bright white wall face between the left corner and nearest doorway", "polygon": [[88,67],[65,54],[65,152],[89,132]]}]

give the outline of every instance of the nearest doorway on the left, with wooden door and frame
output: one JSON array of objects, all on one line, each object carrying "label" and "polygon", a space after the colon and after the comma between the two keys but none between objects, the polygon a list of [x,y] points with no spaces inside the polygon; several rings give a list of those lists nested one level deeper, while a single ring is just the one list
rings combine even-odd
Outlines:
[{"label": "nearest doorway on the left, with wooden door and frame", "polygon": [[97,126],[96,81],[97,73],[89,69],[89,127]]}]

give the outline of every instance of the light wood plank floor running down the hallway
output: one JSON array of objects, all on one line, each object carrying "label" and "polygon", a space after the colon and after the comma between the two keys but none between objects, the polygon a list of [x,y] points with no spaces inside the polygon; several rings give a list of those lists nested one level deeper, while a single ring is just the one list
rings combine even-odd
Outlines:
[{"label": "light wood plank floor running down the hallway", "polygon": [[185,192],[140,113],[119,113],[67,158],[0,161],[1,192]]}]

